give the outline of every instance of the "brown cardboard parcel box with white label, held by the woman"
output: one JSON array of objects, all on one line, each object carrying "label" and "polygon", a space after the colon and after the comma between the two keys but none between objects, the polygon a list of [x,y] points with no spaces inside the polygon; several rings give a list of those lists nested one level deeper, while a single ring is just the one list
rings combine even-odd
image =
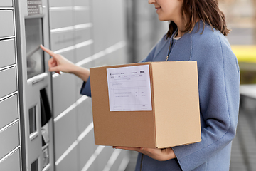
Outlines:
[{"label": "brown cardboard parcel box with white label, held by the woman", "polygon": [[201,141],[196,61],[90,68],[95,145],[165,148]]}]

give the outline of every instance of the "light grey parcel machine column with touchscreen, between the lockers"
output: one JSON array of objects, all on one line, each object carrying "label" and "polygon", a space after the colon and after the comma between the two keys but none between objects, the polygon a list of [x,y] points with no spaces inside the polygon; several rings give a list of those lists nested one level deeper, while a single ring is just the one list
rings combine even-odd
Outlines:
[{"label": "light grey parcel machine column with touchscreen, between the lockers", "polygon": [[47,0],[16,1],[23,170],[54,170]]}]

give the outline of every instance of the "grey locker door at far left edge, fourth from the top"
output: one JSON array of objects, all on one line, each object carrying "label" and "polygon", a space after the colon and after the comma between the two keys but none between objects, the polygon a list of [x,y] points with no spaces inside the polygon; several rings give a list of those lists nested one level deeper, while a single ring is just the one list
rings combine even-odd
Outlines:
[{"label": "grey locker door at far left edge, fourth from the top", "polygon": [[[1,29],[1,28],[0,28]],[[0,71],[0,98],[17,90],[16,68]]]}]

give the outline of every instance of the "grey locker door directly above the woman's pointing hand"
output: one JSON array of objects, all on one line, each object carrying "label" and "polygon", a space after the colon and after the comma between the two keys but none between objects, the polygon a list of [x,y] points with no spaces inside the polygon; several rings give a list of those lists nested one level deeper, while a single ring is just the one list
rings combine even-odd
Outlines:
[{"label": "grey locker door directly above the woman's pointing hand", "polygon": [[58,33],[51,33],[51,49],[52,51],[57,51],[62,48],[67,48],[73,46],[73,30],[72,31],[63,31]]}]

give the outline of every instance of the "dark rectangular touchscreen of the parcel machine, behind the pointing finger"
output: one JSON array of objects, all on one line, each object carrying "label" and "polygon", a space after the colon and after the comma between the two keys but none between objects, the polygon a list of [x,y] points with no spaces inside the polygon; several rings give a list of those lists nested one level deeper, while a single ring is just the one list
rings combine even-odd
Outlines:
[{"label": "dark rectangular touchscreen of the parcel machine, behind the pointing finger", "polygon": [[28,79],[44,72],[42,18],[25,19]]}]

